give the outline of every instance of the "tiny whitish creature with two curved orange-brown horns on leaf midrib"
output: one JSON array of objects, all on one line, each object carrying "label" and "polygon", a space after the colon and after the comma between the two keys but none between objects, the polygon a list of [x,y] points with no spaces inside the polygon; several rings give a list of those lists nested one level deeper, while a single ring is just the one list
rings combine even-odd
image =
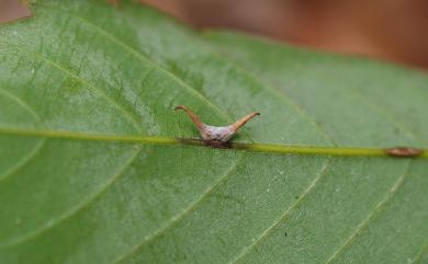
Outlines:
[{"label": "tiny whitish creature with two curved orange-brown horns on leaf midrib", "polygon": [[216,126],[210,126],[202,123],[201,119],[190,108],[188,108],[184,105],[179,105],[174,110],[184,111],[192,119],[194,125],[196,126],[199,133],[201,134],[202,140],[213,146],[215,146],[216,144],[218,145],[226,144],[236,134],[236,131],[240,127],[243,127],[249,119],[251,119],[257,115],[260,115],[260,113],[254,112],[228,126],[216,127]]}]

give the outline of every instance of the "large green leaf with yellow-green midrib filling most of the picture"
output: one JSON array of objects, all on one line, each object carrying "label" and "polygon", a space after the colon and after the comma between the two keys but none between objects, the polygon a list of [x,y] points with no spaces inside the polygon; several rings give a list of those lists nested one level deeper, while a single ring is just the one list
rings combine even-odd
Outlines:
[{"label": "large green leaf with yellow-green midrib filling most of the picture", "polygon": [[[1,264],[428,261],[427,152],[383,150],[428,148],[426,73],[133,3],[31,9],[0,26]],[[214,149],[177,139],[179,104],[262,115]]]}]

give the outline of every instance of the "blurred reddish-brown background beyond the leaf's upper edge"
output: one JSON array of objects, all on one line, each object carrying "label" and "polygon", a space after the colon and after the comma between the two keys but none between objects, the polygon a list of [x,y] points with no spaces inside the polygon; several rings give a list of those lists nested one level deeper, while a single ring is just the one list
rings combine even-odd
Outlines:
[{"label": "blurred reddish-brown background beyond the leaf's upper edge", "polygon": [[[0,0],[0,21],[11,1]],[[142,1],[199,28],[237,28],[428,69],[428,0]]]}]

